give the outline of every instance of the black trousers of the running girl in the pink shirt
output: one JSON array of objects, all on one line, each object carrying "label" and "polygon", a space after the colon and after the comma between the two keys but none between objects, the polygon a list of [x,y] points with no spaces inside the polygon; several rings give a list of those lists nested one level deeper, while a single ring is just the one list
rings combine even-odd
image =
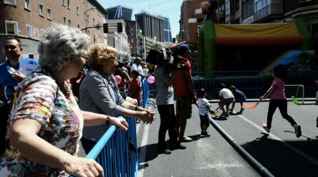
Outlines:
[{"label": "black trousers of the running girl in the pink shirt", "polygon": [[296,124],[294,119],[287,114],[287,100],[286,99],[271,99],[269,102],[268,113],[267,113],[267,128],[268,129],[272,127],[272,119],[277,107],[280,109],[280,112],[283,118],[289,121],[291,126]]}]

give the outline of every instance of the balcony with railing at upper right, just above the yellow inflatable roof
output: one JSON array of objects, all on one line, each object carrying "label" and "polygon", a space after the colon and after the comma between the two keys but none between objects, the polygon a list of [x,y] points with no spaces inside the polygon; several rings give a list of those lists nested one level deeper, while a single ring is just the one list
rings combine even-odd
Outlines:
[{"label": "balcony with railing at upper right, just above the yellow inflatable roof", "polygon": [[270,15],[282,15],[283,13],[283,4],[270,4],[267,7],[255,12],[254,21],[261,20]]}]

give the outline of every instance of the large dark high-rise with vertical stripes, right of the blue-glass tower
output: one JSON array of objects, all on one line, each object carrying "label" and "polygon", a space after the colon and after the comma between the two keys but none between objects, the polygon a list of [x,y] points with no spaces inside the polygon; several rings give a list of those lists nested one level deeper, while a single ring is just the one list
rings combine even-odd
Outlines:
[{"label": "large dark high-rise with vertical stripes, right of the blue-glass tower", "polygon": [[136,22],[142,30],[142,35],[156,37],[158,42],[165,42],[164,22],[165,18],[151,15],[147,12],[135,14]]}]

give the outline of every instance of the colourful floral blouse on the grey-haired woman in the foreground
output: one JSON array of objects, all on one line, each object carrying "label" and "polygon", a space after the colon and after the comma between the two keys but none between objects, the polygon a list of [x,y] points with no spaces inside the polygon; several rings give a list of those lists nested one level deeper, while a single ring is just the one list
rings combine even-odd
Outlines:
[{"label": "colourful floral blouse on the grey-haired woman in the foreground", "polygon": [[[9,114],[7,139],[15,118],[30,118],[42,122],[39,137],[73,156],[77,155],[84,123],[81,110],[72,93],[68,100],[48,71],[38,68],[19,83]],[[0,158],[0,176],[69,175],[59,168],[32,162],[9,143],[5,154]]]}]

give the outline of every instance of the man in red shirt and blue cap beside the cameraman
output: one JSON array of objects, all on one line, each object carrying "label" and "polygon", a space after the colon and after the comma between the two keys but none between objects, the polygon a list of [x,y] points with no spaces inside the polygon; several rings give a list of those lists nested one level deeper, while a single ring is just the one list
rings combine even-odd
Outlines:
[{"label": "man in red shirt and blue cap beside the cameraman", "polygon": [[[182,44],[179,48],[176,48],[178,55],[182,58],[188,58],[191,50],[188,45]],[[187,119],[192,115],[192,104],[196,103],[196,96],[193,86],[193,80],[191,77],[191,64],[189,61],[182,61],[185,64],[186,69],[178,72],[176,80],[174,81],[174,90],[176,97],[176,136],[179,137],[179,142],[193,141],[191,138],[185,136],[185,130],[187,125]]]}]

